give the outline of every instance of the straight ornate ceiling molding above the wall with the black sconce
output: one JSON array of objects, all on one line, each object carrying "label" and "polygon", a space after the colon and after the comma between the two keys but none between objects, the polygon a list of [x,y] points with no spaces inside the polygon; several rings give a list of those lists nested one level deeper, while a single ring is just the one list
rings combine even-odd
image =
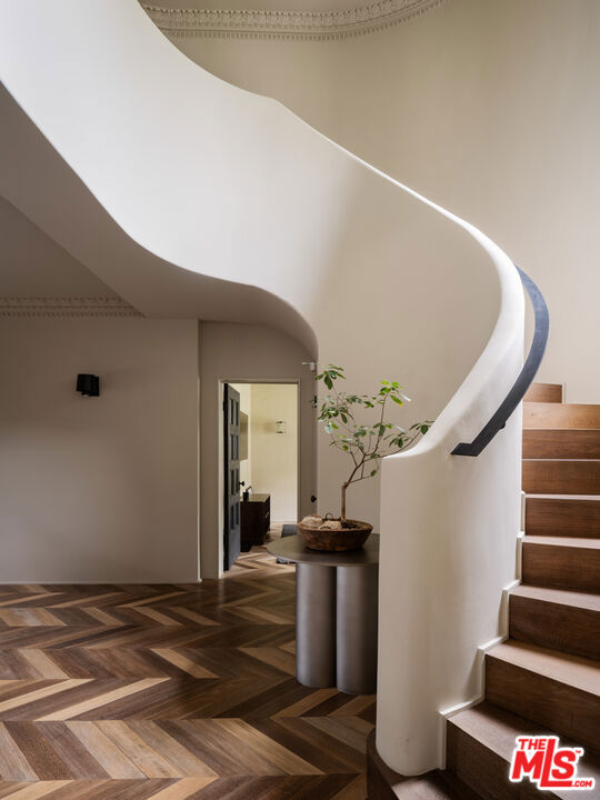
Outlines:
[{"label": "straight ornate ceiling molding above the wall with the black sconce", "polygon": [[0,317],[143,317],[119,297],[0,297]]}]

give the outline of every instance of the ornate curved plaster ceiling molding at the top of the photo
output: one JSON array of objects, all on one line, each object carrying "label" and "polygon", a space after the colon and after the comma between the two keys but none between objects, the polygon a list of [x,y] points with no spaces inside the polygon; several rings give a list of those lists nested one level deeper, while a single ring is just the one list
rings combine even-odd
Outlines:
[{"label": "ornate curved plaster ceiling molding at the top of the photo", "polygon": [[227,37],[334,41],[372,33],[420,17],[448,0],[380,0],[346,11],[249,11],[142,8],[169,37]]}]

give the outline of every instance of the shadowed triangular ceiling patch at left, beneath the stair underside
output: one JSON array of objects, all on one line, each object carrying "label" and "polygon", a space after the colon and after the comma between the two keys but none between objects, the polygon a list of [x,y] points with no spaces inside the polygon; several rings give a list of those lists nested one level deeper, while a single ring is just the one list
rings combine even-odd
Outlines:
[{"label": "shadowed triangular ceiling patch at left, beneath the stair underside", "polygon": [[0,241],[0,297],[117,297],[3,198]]}]

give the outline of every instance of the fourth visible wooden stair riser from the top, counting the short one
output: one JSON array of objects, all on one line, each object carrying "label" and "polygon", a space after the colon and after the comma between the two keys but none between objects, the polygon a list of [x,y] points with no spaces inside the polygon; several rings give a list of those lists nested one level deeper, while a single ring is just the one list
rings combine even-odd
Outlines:
[{"label": "fourth visible wooden stair riser from the top, counting the short one", "polygon": [[524,460],[522,489],[530,494],[600,494],[600,461]]}]

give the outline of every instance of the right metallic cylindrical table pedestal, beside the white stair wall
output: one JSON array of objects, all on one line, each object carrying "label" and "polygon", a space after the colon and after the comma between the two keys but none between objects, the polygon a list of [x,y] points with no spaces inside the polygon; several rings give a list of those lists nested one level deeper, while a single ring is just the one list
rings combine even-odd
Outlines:
[{"label": "right metallic cylindrical table pedestal, beside the white stair wall", "polygon": [[337,677],[348,694],[377,690],[378,566],[337,567]]}]

